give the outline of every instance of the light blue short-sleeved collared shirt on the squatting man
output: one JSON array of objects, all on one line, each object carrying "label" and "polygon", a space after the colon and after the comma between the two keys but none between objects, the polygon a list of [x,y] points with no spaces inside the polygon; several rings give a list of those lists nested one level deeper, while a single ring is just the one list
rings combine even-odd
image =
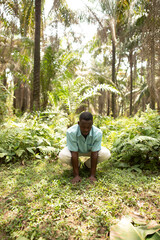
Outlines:
[{"label": "light blue short-sleeved collared shirt on the squatting man", "polygon": [[101,150],[102,131],[93,126],[85,138],[78,124],[67,130],[67,147],[70,151],[87,153]]}]

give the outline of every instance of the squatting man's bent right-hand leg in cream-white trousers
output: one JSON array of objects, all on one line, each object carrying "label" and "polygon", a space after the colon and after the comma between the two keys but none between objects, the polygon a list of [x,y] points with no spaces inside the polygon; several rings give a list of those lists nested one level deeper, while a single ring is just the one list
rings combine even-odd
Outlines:
[{"label": "squatting man's bent right-hand leg in cream-white trousers", "polygon": [[[87,156],[87,155],[86,155]],[[103,161],[108,160],[111,157],[111,153],[110,151],[105,148],[105,147],[101,147],[101,150],[98,152],[98,163],[101,163]],[[85,165],[88,168],[91,168],[91,159],[87,159],[87,161],[85,162]]]}]

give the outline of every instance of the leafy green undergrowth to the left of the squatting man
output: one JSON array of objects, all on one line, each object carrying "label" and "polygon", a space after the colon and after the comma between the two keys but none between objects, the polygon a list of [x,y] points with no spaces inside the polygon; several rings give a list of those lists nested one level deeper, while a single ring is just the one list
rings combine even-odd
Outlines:
[{"label": "leafy green undergrowth to the left of the squatting man", "polygon": [[61,126],[62,119],[58,119],[53,116],[47,124],[47,120],[36,114],[8,120],[1,125],[0,161],[8,163],[57,156],[65,137],[64,118]]}]

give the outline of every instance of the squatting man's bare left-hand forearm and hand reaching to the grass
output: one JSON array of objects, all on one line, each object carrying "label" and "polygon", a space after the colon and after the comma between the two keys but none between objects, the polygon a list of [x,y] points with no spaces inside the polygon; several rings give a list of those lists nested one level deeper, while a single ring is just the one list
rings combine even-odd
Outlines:
[{"label": "squatting man's bare left-hand forearm and hand reaching to the grass", "polygon": [[72,158],[72,166],[73,166],[73,175],[72,183],[81,182],[81,178],[79,176],[79,168],[78,168],[78,152],[71,152]]}]

